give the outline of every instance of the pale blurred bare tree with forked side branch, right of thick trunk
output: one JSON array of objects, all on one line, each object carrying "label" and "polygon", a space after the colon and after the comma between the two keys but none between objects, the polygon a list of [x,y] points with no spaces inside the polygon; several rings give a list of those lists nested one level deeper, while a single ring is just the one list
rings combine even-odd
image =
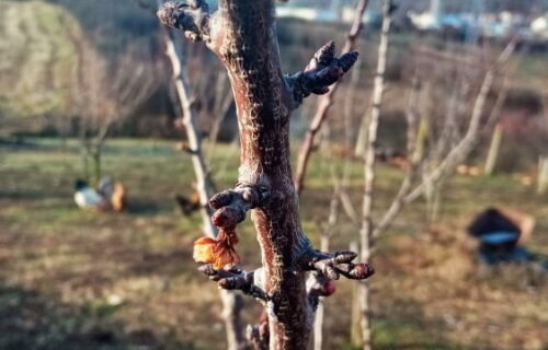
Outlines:
[{"label": "pale blurred bare tree with forked side branch, right of thick trunk", "polygon": [[[400,213],[406,205],[411,203],[416,200],[420,196],[426,192],[426,190],[435,185],[438,185],[443,179],[445,179],[450,173],[454,172],[455,167],[471,152],[475,142],[479,138],[479,131],[481,129],[481,117],[484,112],[484,105],[489,92],[493,85],[493,81],[496,74],[500,72],[501,67],[507,61],[510,55],[514,49],[514,44],[511,43],[504,51],[501,54],[496,62],[494,62],[490,69],[488,69],[484,74],[483,81],[481,83],[480,90],[476,97],[476,102],[472,107],[471,116],[469,118],[468,125],[466,127],[465,133],[457,139],[454,143],[447,143],[450,139],[450,130],[454,127],[455,107],[450,107],[444,126],[442,127],[442,132],[437,139],[437,142],[432,142],[433,148],[431,150],[430,159],[425,158],[424,150],[424,129],[421,130],[420,126],[422,122],[416,122],[416,101],[418,93],[412,92],[410,94],[410,101],[408,104],[408,125],[409,127],[418,127],[419,130],[408,131],[408,136],[414,138],[414,140],[408,140],[408,152],[409,153],[409,166],[407,168],[407,174],[400,185],[400,188],[393,198],[391,205],[381,215],[381,219],[377,224],[374,224],[373,220],[373,205],[376,195],[375,191],[375,163],[376,154],[375,149],[377,144],[378,125],[380,121],[380,109],[383,104],[383,93],[385,91],[385,70],[387,62],[387,48],[389,39],[389,28],[390,28],[390,9],[391,1],[385,0],[384,2],[384,21],[381,30],[381,38],[379,44],[378,61],[376,80],[373,91],[373,102],[372,102],[372,113],[367,116],[366,125],[368,130],[367,142],[365,148],[365,162],[364,162],[364,200],[363,200],[363,219],[362,219],[362,232],[361,232],[361,243],[362,243],[362,260],[369,261],[373,248],[375,245],[375,240],[393,222],[396,217]],[[416,82],[413,83],[413,90],[419,89]],[[449,98],[449,105],[452,105]],[[433,161],[433,160],[439,160]],[[430,166],[433,164],[433,166]],[[421,176],[419,176],[421,175]],[[352,214],[350,215],[352,217]],[[368,281],[359,284],[361,295],[359,300],[362,303],[362,337],[363,337],[363,349],[372,349],[372,330],[370,330],[370,285]]]}]

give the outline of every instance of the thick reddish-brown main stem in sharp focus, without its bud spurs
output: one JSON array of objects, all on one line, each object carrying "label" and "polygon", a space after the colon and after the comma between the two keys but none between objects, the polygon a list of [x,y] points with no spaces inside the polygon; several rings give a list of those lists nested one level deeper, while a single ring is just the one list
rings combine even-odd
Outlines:
[{"label": "thick reddish-brown main stem in sharp focus, without its bud spurs", "polygon": [[[289,165],[289,100],[271,0],[220,1],[226,22],[218,54],[235,94],[240,130],[239,184],[264,186],[276,198],[252,211],[265,273],[270,349],[306,349],[310,314],[305,273],[293,273],[309,248],[298,217]],[[220,44],[220,43],[219,43]]]}]

